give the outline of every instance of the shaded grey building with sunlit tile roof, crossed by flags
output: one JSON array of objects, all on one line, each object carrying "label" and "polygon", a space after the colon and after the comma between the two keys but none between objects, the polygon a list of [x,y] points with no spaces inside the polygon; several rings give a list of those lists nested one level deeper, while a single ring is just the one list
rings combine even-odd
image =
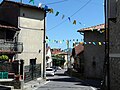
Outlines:
[{"label": "shaded grey building with sunlit tile roof, crossed by flags", "polygon": [[102,79],[105,59],[104,24],[78,30],[84,35],[84,76]]}]

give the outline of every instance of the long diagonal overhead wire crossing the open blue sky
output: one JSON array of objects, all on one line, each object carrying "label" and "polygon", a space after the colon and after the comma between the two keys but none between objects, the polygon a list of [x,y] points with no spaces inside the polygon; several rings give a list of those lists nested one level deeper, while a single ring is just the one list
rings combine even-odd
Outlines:
[{"label": "long diagonal overhead wire crossing the open blue sky", "polygon": [[[75,14],[77,14],[81,9],[83,9],[83,8],[84,8],[86,5],[88,5],[91,1],[92,1],[92,0],[89,0],[88,2],[86,2],[82,7],[80,7],[80,8],[79,8],[76,12],[74,12],[70,17],[73,17]],[[65,19],[64,21],[62,21],[61,23],[55,25],[54,27],[48,29],[48,31],[50,31],[50,30],[52,30],[52,29],[54,29],[54,28],[62,25],[62,24],[63,24],[64,22],[66,22],[67,20],[68,20],[68,18]]]}]

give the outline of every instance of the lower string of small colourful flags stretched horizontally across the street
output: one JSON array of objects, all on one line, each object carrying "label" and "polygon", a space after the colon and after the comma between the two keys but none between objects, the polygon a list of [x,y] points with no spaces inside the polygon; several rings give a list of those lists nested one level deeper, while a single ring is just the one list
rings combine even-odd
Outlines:
[{"label": "lower string of small colourful flags stretched horizontally across the street", "polygon": [[73,40],[50,40],[50,39],[46,39],[46,43],[58,43],[58,44],[62,44],[62,43],[66,43],[68,44],[68,42],[72,42],[74,44],[91,44],[91,45],[105,45],[106,42],[79,42],[78,39],[75,41],[75,39]]}]

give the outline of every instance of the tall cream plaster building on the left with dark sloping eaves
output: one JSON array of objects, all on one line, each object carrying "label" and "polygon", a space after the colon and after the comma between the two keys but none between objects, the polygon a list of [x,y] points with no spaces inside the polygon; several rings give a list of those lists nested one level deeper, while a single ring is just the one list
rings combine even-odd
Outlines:
[{"label": "tall cream plaster building on the left with dark sloping eaves", "polygon": [[13,39],[23,43],[23,51],[13,55],[12,59],[24,60],[26,81],[42,77],[44,73],[45,16],[41,7],[9,0],[0,4],[0,20],[20,29]]}]

